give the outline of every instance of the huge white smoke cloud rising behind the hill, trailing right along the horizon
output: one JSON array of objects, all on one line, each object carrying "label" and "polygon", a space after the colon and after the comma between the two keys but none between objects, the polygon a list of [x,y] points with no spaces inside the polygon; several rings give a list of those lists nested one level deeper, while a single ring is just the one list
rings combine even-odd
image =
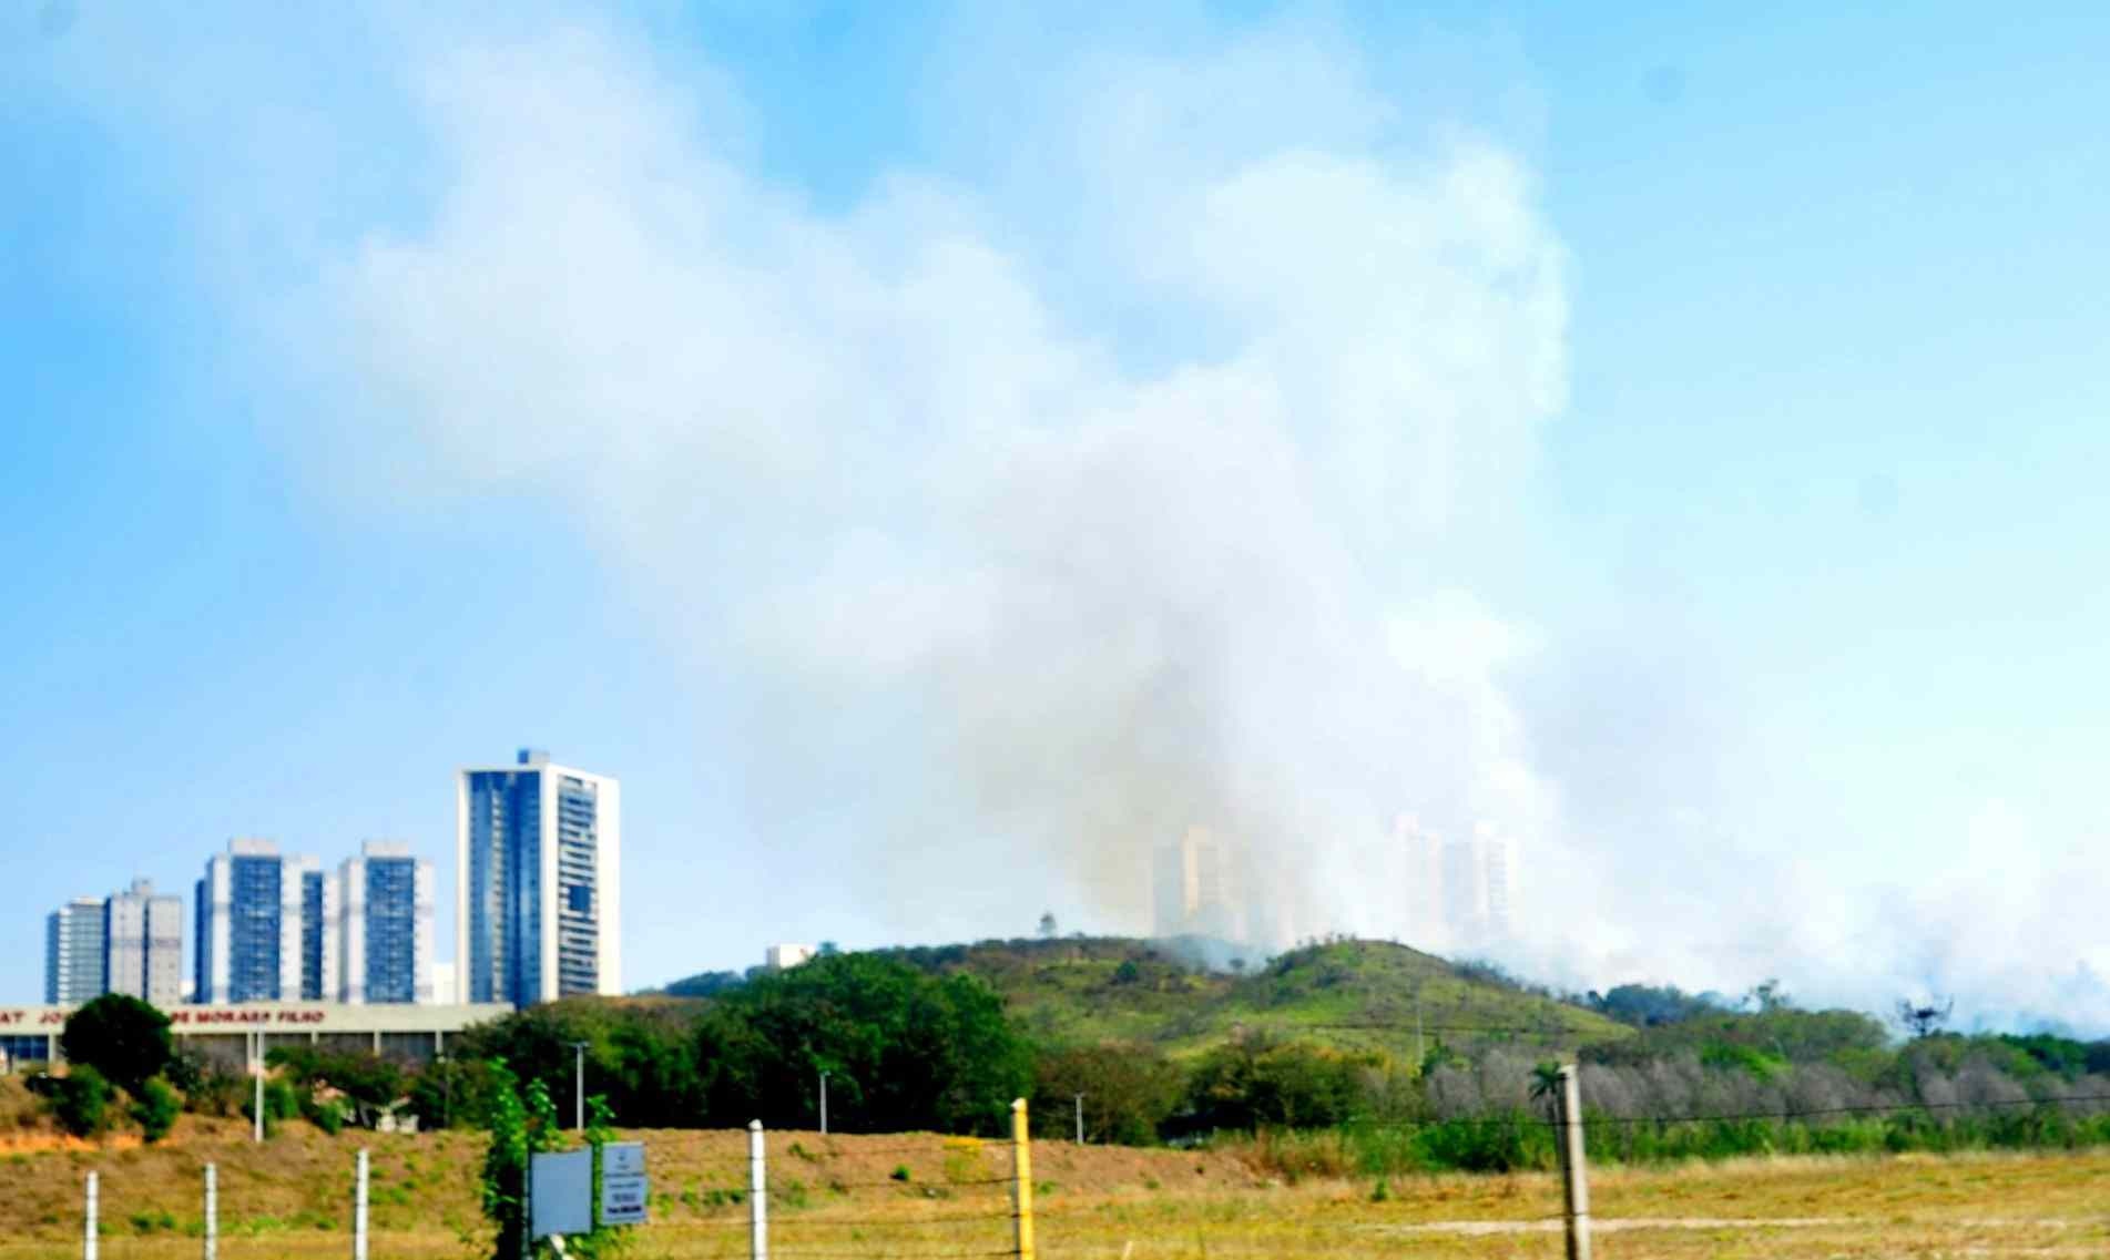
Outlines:
[{"label": "huge white smoke cloud rising behind the hill, trailing right along the horizon", "polygon": [[363,112],[384,141],[270,114],[211,167],[200,201],[249,209],[198,228],[205,266],[327,483],[532,496],[629,574],[743,747],[747,832],[698,861],[855,880],[874,935],[1047,903],[1142,931],[1150,851],[1203,823],[1296,935],[1443,943],[1412,813],[1513,840],[1507,956],[1553,981],[2110,1024],[2110,958],[2011,939],[2083,884],[2002,918],[1960,880],[1844,886],[1821,842],[1724,821],[1781,810],[1675,616],[1534,618],[1564,249],[1513,152],[1401,118],[1353,49],[1082,59],[1000,177],[817,205],[726,84],[625,36],[399,25],[361,36],[401,74]]}]

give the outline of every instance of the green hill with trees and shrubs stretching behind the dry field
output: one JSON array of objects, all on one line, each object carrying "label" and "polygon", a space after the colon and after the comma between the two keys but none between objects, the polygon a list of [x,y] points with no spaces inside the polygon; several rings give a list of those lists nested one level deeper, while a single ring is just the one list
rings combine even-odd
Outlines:
[{"label": "green hill with trees and shrubs stretching behind the dry field", "polygon": [[[380,1127],[407,1108],[420,1129],[498,1125],[525,1106],[521,1087],[561,1112],[578,1102],[582,1043],[591,1091],[633,1127],[804,1129],[825,1074],[836,1131],[1000,1138],[1030,1097],[1047,1138],[1082,1121],[1089,1142],[1258,1140],[1287,1176],[1549,1169],[1545,1081],[1570,1055],[1606,1163],[2110,1144],[2110,1043],[1952,1034],[1907,1019],[1916,1007],[1899,1038],[1863,1013],[1800,1009],[1777,981],[1743,998],[1644,984],[1561,998],[1378,941],[1260,969],[1194,956],[1228,960],[1213,941],[1120,939],[827,952],[703,977],[709,998],[538,1005],[462,1032],[424,1068],[281,1047],[266,1121]],[[74,1070],[30,1078],[30,1140],[133,1125],[152,1140],[175,1106],[247,1106],[247,1081],[169,1057],[156,1013],[118,998],[97,1011],[108,1019],[68,1026]],[[21,1129],[23,1108],[0,1119]]]}]

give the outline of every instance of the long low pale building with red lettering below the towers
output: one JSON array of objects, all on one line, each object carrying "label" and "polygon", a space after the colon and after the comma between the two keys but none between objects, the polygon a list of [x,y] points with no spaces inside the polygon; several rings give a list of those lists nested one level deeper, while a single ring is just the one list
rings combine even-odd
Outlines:
[{"label": "long low pale building with red lettering below the towers", "polygon": [[[57,1064],[59,1034],[72,1007],[0,1007],[0,1053],[11,1068]],[[213,1064],[241,1068],[262,1034],[264,1051],[314,1045],[333,1051],[371,1051],[392,1059],[430,1062],[447,1036],[475,1024],[511,1015],[504,1003],[473,1007],[414,1007],[338,1003],[243,1003],[238,1007],[175,1007],[169,1032],[177,1049],[194,1049]]]}]

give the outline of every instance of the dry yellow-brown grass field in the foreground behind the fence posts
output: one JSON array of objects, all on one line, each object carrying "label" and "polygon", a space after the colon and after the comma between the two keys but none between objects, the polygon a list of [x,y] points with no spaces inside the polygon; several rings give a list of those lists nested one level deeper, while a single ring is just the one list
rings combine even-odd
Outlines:
[{"label": "dry yellow-brown grass field in the foreground behind the fence posts", "polygon": [[[186,1119],[167,1146],[0,1146],[0,1260],[80,1256],[80,1184],[101,1173],[103,1260],[200,1254],[198,1167],[219,1167],[228,1260],[350,1254],[352,1152],[373,1161],[376,1260],[485,1256],[473,1135],[340,1135],[293,1127],[251,1146]],[[745,1133],[648,1131],[654,1224],[637,1260],[747,1256]],[[772,1133],[772,1254],[987,1256],[1011,1245],[1011,1152],[931,1135]],[[1555,1258],[1549,1176],[1281,1184],[1236,1150],[1034,1148],[1040,1254],[1051,1260],[1209,1256]],[[2110,1256],[2110,1152],[1777,1159],[1597,1169],[1597,1254]]]}]

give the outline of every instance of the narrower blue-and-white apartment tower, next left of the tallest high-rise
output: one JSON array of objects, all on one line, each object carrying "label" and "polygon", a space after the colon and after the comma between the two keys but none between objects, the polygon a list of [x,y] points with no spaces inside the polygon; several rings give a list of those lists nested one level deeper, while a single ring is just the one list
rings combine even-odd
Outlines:
[{"label": "narrower blue-and-white apartment tower, next left of the tallest high-rise", "polygon": [[433,863],[409,844],[367,840],[338,867],[342,984],[354,1007],[433,1003]]}]

